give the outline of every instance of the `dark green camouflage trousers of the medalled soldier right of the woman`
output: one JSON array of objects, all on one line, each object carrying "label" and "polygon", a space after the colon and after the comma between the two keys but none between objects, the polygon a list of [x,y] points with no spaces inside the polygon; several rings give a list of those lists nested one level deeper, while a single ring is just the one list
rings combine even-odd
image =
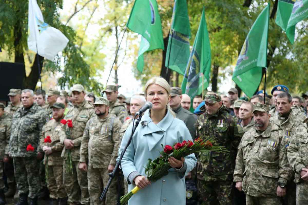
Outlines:
[{"label": "dark green camouflage trousers of the medalled soldier right of the woman", "polygon": [[200,205],[232,204],[232,181],[197,180]]}]

